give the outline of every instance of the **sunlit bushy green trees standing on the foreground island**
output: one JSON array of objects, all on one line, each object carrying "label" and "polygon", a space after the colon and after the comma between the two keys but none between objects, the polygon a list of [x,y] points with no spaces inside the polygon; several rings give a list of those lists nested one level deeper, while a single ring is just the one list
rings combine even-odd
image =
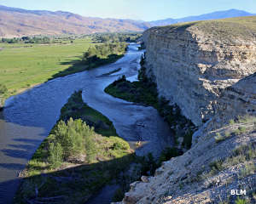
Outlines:
[{"label": "sunlit bushy green trees standing on the foreground island", "polygon": [[57,123],[49,135],[49,158],[52,167],[59,167],[63,161],[80,155],[86,155],[90,162],[96,154],[96,145],[93,140],[95,132],[81,119],[70,118],[67,123]]}]

